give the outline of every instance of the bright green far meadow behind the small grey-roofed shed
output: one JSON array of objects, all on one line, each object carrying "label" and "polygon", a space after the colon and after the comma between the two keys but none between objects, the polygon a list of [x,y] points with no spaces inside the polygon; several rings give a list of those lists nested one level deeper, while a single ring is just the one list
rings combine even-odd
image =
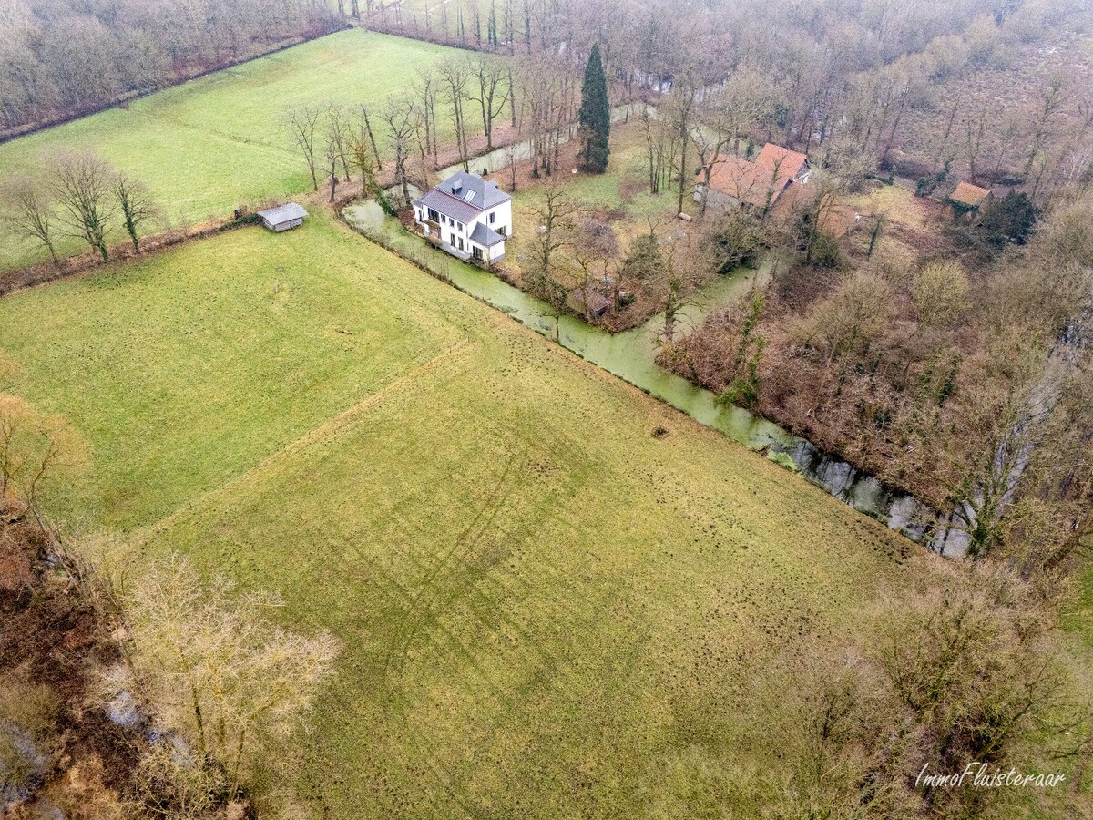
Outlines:
[{"label": "bright green far meadow behind the small grey-roofed shed", "polygon": [[[38,173],[50,152],[92,149],[143,180],[173,224],[231,215],[239,202],[310,189],[303,155],[281,126],[286,109],[379,105],[448,54],[359,30],[333,34],[0,145],[0,179]],[[381,127],[376,137],[386,144]],[[66,250],[86,248],[70,242]],[[30,241],[0,233],[0,270],[46,258]]]}]

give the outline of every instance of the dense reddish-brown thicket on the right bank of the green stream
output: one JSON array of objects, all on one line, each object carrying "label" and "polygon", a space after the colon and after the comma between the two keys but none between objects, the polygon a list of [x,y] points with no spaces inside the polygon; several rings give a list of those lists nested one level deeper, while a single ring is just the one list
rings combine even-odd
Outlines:
[{"label": "dense reddish-brown thicket on the right bank of the green stream", "polygon": [[[1002,507],[1030,448],[1077,446],[1061,429],[1049,435],[1041,420],[1062,412],[1057,396],[1069,395],[1054,384],[1051,361],[1068,324],[1084,327],[1093,283],[1080,225],[1091,207],[1089,194],[1060,197],[1029,245],[997,261],[967,250],[960,233],[944,238],[945,223],[933,225],[931,253],[893,232],[870,254],[859,233],[844,242],[836,267],[800,265],[776,276],[754,331],[748,311],[731,307],[666,349],[662,361],[724,394],[739,375],[733,363],[745,333],[757,333],[764,352],[754,409],[954,509],[974,548],[998,546]],[[902,235],[921,230],[905,226]],[[968,267],[953,261],[962,247]],[[1069,412],[1072,429],[1089,426]],[[1088,500],[1081,469],[1063,494]]]}]

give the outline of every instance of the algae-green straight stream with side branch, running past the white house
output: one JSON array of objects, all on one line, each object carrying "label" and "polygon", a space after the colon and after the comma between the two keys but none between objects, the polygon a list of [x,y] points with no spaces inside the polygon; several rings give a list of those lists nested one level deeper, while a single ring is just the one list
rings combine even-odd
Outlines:
[{"label": "algae-green straight stream with side branch, running past the white house", "polygon": [[[799,472],[858,512],[944,555],[964,554],[966,541],[957,537],[963,532],[950,531],[948,522],[939,520],[936,511],[914,496],[820,450],[774,422],[740,407],[718,405],[710,390],[658,365],[655,356],[657,337],[663,327],[662,315],[631,330],[611,333],[575,316],[560,315],[545,302],[494,274],[433,248],[404,231],[397,220],[386,216],[375,202],[349,206],[343,215],[359,233],[446,277],[460,291],[508,314],[695,421],[720,431],[749,449],[765,453],[772,461]],[[753,284],[762,283],[765,276],[762,269],[741,268],[718,277],[678,312],[678,327],[683,331],[697,327],[710,312],[739,298]]]}]

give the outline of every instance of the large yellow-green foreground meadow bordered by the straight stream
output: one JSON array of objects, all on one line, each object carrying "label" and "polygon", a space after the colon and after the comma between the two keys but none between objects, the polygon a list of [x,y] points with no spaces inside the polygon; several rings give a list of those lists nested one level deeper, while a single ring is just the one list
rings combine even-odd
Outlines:
[{"label": "large yellow-green foreground meadow bordered by the straight stream", "polygon": [[330,817],[720,817],[761,762],[745,673],[900,572],[883,527],[322,216],[0,300],[0,349],[134,572],[178,550],[341,637],[291,784]]}]

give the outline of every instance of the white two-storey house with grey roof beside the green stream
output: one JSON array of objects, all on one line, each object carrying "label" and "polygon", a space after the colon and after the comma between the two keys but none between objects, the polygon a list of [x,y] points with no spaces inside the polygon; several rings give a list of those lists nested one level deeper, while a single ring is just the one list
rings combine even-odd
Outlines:
[{"label": "white two-storey house with grey roof beside the green stream", "polygon": [[513,233],[513,198],[478,174],[460,171],[413,201],[425,236],[460,259],[490,266],[505,258]]}]

